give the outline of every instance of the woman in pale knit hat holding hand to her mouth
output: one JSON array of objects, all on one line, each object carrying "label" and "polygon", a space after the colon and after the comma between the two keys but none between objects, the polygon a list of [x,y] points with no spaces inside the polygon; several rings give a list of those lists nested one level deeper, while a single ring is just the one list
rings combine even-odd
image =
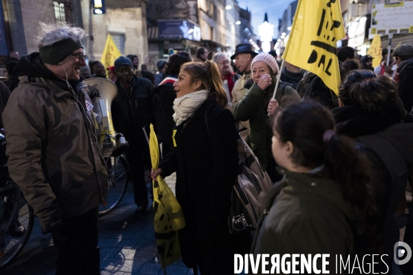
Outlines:
[{"label": "woman in pale knit hat holding hand to her mouth", "polygon": [[[267,107],[270,102],[279,68],[271,54],[258,54],[251,63],[252,78],[245,83],[244,98],[234,106],[235,120],[250,121],[251,148],[274,181],[280,179],[275,170],[275,160],[271,154],[271,127],[268,126]],[[300,101],[297,91],[284,83],[279,83],[275,100],[280,106],[288,102]],[[269,107],[268,107],[269,108]]]}]

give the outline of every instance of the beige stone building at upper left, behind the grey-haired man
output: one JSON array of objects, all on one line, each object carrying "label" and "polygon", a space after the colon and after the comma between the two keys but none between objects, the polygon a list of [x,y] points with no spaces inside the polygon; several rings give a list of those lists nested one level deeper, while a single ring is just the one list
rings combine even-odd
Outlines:
[{"label": "beige stone building at upper left, behind the grey-haired man", "polygon": [[[67,22],[85,30],[83,41],[90,60],[100,60],[107,34],[122,54],[148,58],[147,0],[106,0],[104,14],[93,14],[91,0],[2,0],[6,45],[20,56],[37,52],[36,35],[42,23]],[[4,58],[5,56],[3,56]]]}]

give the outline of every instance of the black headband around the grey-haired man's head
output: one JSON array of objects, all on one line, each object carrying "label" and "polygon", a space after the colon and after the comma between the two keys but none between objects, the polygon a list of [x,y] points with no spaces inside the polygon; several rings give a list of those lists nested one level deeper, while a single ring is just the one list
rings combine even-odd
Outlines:
[{"label": "black headband around the grey-haired man's head", "polygon": [[41,47],[39,49],[41,61],[43,64],[55,65],[69,54],[72,54],[74,50],[83,48],[80,40],[74,41],[73,39],[63,39],[50,46]]}]

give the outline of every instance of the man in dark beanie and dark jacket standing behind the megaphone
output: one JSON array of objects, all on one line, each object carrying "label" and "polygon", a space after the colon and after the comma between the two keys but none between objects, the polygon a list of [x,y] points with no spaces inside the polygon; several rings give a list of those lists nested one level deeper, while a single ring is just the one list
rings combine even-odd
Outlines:
[{"label": "man in dark beanie and dark jacket standing behind the megaphone", "polygon": [[132,61],[120,56],[115,61],[118,76],[118,95],[112,101],[112,119],[115,130],[123,133],[129,142],[126,158],[131,166],[135,203],[138,209],[134,217],[139,218],[148,208],[144,166],[151,167],[149,155],[149,124],[155,124],[155,113],[160,114],[160,104],[152,94],[152,83],[134,75]]}]

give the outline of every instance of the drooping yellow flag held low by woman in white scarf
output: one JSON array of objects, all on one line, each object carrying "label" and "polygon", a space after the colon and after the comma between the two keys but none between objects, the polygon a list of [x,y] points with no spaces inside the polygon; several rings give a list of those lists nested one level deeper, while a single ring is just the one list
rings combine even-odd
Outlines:
[{"label": "drooping yellow flag held low by woman in white scarf", "polygon": [[[149,150],[153,170],[158,170],[158,139],[151,124]],[[166,267],[179,261],[180,246],[178,230],[185,227],[184,213],[173,192],[160,175],[153,181],[153,227],[155,228],[156,246],[160,257],[160,265]]]}]

